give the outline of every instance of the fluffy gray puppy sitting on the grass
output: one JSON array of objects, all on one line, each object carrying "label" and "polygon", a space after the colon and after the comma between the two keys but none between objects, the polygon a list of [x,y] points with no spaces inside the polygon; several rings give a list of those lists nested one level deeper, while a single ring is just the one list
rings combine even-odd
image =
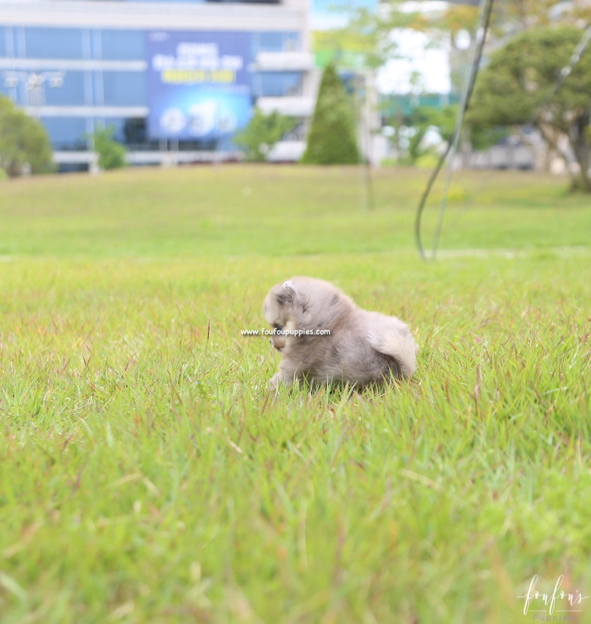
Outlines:
[{"label": "fluffy gray puppy sitting on the grass", "polygon": [[294,381],[365,386],[414,373],[417,347],[407,326],[358,308],[327,281],[294,277],[276,284],[263,313],[281,353],[273,388]]}]

